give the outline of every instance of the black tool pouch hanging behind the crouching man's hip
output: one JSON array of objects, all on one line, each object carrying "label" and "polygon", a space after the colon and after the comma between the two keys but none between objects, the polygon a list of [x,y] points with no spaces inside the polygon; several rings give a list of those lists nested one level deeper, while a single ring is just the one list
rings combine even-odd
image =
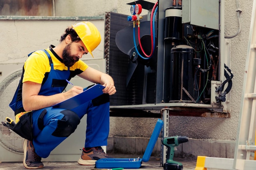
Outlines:
[{"label": "black tool pouch hanging behind the crouching man's hip", "polygon": [[20,121],[15,123],[14,121],[7,120],[7,123],[2,121],[3,126],[13,130],[21,137],[31,141],[32,138],[32,111],[29,111],[20,116]]}]

